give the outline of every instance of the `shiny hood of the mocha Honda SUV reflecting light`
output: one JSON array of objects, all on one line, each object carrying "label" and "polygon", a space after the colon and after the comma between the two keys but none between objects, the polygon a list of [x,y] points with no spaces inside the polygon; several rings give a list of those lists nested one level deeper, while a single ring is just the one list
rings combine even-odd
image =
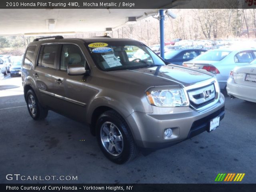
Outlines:
[{"label": "shiny hood of the mocha Honda SUV reflecting light", "polygon": [[134,70],[120,70],[111,72],[120,81],[147,86],[188,85],[204,81],[213,76],[198,70],[177,65],[154,66]]}]

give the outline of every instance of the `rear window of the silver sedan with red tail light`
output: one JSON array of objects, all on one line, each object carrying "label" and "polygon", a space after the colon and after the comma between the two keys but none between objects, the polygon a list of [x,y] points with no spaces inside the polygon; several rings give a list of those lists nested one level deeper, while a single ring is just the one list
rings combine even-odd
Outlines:
[{"label": "rear window of the silver sedan with red tail light", "polygon": [[198,61],[198,60],[221,61],[230,53],[231,53],[230,51],[219,51],[219,50],[208,51],[196,57],[194,61]]}]

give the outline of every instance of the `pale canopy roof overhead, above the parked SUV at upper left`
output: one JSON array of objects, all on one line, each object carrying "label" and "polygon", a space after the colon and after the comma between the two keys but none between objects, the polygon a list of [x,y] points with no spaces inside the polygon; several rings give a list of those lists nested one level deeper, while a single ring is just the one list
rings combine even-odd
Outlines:
[{"label": "pale canopy roof overhead, above the parked SUV at upper left", "polygon": [[[151,0],[152,1],[152,0]],[[153,1],[157,8],[171,8],[180,0]],[[175,3],[175,4],[174,4]],[[158,9],[0,9],[0,35],[100,32],[137,20]]]}]

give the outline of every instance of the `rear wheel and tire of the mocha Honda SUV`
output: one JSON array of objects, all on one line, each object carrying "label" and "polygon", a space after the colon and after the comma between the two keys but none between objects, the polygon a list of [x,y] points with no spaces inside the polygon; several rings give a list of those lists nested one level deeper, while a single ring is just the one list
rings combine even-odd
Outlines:
[{"label": "rear wheel and tire of the mocha Honda SUV", "polygon": [[26,94],[28,112],[34,120],[42,120],[48,115],[48,110],[38,102],[36,94],[31,89]]}]

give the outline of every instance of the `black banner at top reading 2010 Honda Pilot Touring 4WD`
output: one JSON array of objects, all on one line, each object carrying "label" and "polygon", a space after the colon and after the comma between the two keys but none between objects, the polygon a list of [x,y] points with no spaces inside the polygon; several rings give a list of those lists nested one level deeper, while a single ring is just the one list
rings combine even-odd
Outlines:
[{"label": "black banner at top reading 2010 Honda Pilot Touring 4WD", "polygon": [[256,0],[1,0],[1,9],[256,8]]}]

